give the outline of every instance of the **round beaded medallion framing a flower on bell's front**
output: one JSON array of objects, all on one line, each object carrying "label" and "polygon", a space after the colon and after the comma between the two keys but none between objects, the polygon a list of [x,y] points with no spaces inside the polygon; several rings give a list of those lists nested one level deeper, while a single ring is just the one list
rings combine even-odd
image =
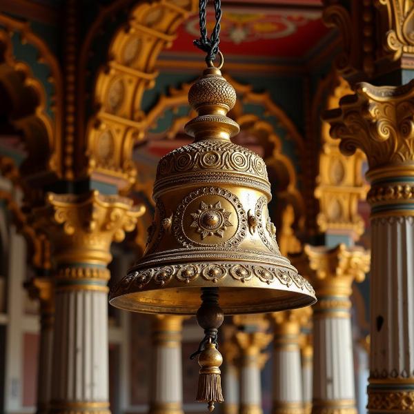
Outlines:
[{"label": "round beaded medallion framing a flower on bell's front", "polygon": [[[198,210],[197,213],[195,212],[190,212],[191,217],[193,218],[193,223],[190,224],[190,227],[192,227],[193,225],[195,225],[196,227],[199,225],[199,219],[200,218],[205,218],[205,219],[221,219],[223,220],[223,223],[220,224],[218,230],[216,228],[214,228],[214,232],[212,231],[208,231],[206,227],[206,223],[204,223],[203,226],[200,226],[199,231],[197,228],[197,233],[201,233],[201,239],[204,239],[204,237],[206,237],[206,235],[208,234],[217,234],[217,232],[219,232],[219,236],[223,237],[224,234],[224,230],[227,227],[233,227],[237,226],[237,229],[235,230],[235,233],[232,237],[230,237],[227,240],[224,240],[221,243],[199,243],[197,241],[195,241],[194,239],[190,239],[184,230],[184,218],[186,217],[186,207],[188,206],[188,204],[191,203],[191,201],[199,198],[199,197],[203,197],[203,196],[210,196],[210,195],[216,195],[219,197],[223,197],[224,199],[226,199],[227,201],[229,201],[229,203],[231,204],[231,206],[233,206],[234,208],[234,212],[237,214],[237,221],[232,224],[228,221],[228,218],[230,217],[230,212],[225,211],[224,209],[221,208],[221,204],[219,203],[219,201],[217,201],[217,204],[215,204],[215,206],[217,207],[215,210],[214,209],[210,209],[208,208],[208,206],[204,203],[204,201],[200,201],[201,202],[201,206],[204,206],[204,204],[206,205],[206,208],[201,208],[200,210]],[[210,212],[210,210],[214,213],[217,213],[217,217],[213,215],[211,217],[204,217],[204,213],[208,213]],[[221,210],[223,210],[223,212],[221,212]],[[218,216],[218,213],[220,213],[220,217]],[[207,224],[209,223],[209,221],[207,221]],[[216,226],[217,227],[217,226]],[[223,230],[223,231],[222,231]],[[239,201],[239,199],[237,198],[236,195],[234,195],[233,193],[230,193],[230,191],[226,190],[225,188],[219,188],[219,187],[203,187],[203,188],[198,188],[197,190],[193,191],[192,193],[186,195],[186,197],[184,197],[184,199],[181,201],[181,203],[179,204],[179,206],[177,207],[177,211],[175,212],[174,215],[174,219],[173,219],[173,226],[172,226],[172,231],[173,234],[175,235],[177,241],[182,244],[184,247],[186,248],[193,248],[194,246],[208,246],[209,248],[214,248],[217,250],[220,250],[221,248],[235,248],[237,247],[244,239],[244,237],[246,237],[247,234],[247,217],[246,217],[246,213],[243,209],[242,203]],[[222,232],[222,233],[221,233]]]}]

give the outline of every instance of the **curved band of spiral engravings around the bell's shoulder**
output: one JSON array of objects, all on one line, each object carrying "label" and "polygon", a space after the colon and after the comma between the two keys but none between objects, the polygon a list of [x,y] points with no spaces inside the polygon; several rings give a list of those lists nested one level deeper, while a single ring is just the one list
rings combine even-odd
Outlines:
[{"label": "curved band of spiral engravings around the bell's shoulder", "polygon": [[268,180],[266,164],[255,152],[230,141],[213,139],[182,146],[162,157],[157,180],[192,170],[244,172]]}]

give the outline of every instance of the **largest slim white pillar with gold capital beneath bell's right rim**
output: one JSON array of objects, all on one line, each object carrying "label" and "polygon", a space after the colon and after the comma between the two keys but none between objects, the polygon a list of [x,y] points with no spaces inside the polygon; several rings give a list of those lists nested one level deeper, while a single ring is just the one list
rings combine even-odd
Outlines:
[{"label": "largest slim white pillar with gold capital beneath bell's right rim", "polygon": [[273,414],[303,414],[300,327],[311,308],[272,313]]}]

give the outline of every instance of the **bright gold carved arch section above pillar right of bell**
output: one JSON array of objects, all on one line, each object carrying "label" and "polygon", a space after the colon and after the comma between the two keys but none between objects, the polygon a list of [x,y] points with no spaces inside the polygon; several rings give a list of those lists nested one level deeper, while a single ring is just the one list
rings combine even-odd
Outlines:
[{"label": "bright gold carved arch section above pillar right of bell", "polygon": [[[344,78],[332,73],[319,83],[313,105],[315,112],[316,102],[322,99],[322,92],[327,87],[332,92],[326,99],[326,110],[337,108],[339,99],[353,93]],[[356,240],[364,233],[364,221],[358,213],[358,202],[365,199],[368,192],[362,172],[366,157],[360,150],[352,157],[345,157],[339,150],[337,140],[329,135],[329,124],[322,121],[320,128],[322,150],[319,154],[319,175],[315,188],[315,197],[319,199],[317,225],[322,233],[346,232]]]}]

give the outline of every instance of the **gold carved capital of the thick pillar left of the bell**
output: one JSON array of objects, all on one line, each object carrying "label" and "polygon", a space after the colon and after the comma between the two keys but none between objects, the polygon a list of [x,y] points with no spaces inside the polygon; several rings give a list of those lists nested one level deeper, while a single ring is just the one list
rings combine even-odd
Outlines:
[{"label": "gold carved capital of the thick pillar left of the bell", "polygon": [[57,264],[106,266],[111,242],[121,242],[144,212],[131,199],[93,190],[86,195],[48,193],[46,206],[35,209],[33,219],[52,240]]}]

